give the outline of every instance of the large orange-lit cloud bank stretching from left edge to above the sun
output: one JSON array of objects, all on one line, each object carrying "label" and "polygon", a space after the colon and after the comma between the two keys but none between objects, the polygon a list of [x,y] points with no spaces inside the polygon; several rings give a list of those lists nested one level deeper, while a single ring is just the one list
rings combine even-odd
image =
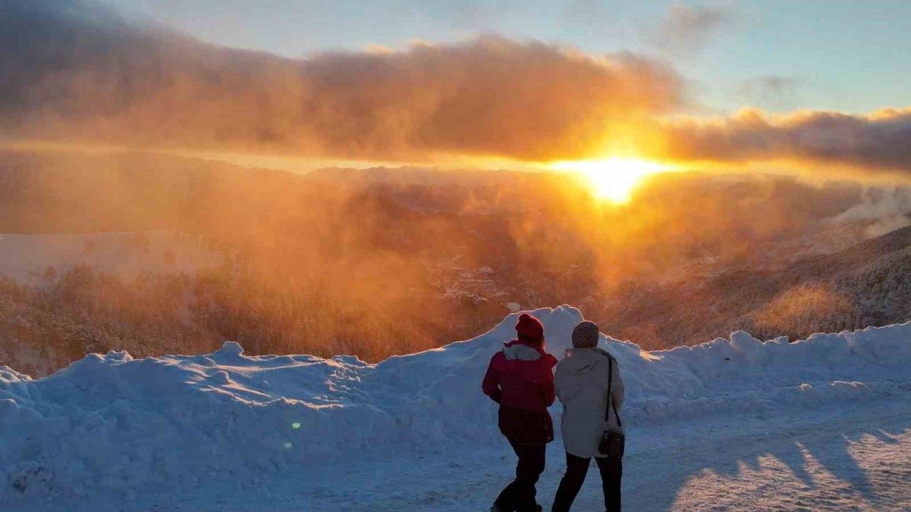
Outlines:
[{"label": "large orange-lit cloud bank stretching from left edge to above the sun", "polygon": [[[631,54],[482,36],[306,60],[210,46],[78,0],[0,20],[7,138],[344,159],[582,158],[678,105]],[[620,128],[622,127],[622,128]]]}]

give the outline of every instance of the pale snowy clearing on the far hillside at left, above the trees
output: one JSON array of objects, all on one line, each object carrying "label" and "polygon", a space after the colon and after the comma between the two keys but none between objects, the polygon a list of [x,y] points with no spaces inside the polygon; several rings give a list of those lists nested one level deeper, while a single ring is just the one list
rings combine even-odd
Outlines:
[{"label": "pale snowy clearing on the far hillside at left, above the trees", "polygon": [[223,257],[196,236],[168,230],[0,234],[0,276],[42,282],[48,267],[57,274],[78,264],[132,277],[140,272],[192,272],[218,265]]}]

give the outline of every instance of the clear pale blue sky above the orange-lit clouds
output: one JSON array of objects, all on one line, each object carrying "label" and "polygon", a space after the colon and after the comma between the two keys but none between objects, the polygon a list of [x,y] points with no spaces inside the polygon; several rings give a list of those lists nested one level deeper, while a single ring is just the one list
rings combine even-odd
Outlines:
[{"label": "clear pale blue sky above the orange-lit clouds", "polygon": [[483,33],[670,60],[702,115],[744,106],[866,113],[911,90],[911,3],[793,0],[108,0],[203,40],[306,57]]}]

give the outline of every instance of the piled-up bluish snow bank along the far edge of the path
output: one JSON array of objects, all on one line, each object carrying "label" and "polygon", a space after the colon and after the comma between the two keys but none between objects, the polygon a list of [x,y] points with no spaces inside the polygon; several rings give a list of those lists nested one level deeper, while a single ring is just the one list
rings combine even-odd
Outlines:
[{"label": "piled-up bluish snow bank along the far edge of the path", "polygon": [[[561,357],[581,314],[568,306],[533,314],[548,351]],[[516,320],[510,314],[473,340],[380,364],[252,357],[228,342],[197,356],[90,354],[36,380],[0,367],[0,502],[20,494],[131,497],[146,486],[191,486],[199,476],[255,482],[365,450],[493,442],[496,406],[480,380]],[[906,393],[911,364],[911,323],[797,343],[738,332],[659,352],[604,335],[600,343],[619,360],[633,428]]]}]

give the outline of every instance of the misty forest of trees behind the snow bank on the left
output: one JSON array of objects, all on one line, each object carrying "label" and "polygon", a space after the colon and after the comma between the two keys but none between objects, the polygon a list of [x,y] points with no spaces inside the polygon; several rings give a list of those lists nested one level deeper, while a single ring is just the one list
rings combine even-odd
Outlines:
[{"label": "misty forest of trees behind the snow bank on the left", "polygon": [[327,289],[267,289],[228,268],[126,279],[78,265],[48,269],[38,285],[0,278],[0,364],[40,375],[86,353],[206,353],[225,340],[249,353],[354,353],[377,361],[482,330],[480,318],[466,324],[465,312],[430,314],[442,308],[439,295],[415,297],[406,316],[390,309],[363,317],[358,304]]}]

